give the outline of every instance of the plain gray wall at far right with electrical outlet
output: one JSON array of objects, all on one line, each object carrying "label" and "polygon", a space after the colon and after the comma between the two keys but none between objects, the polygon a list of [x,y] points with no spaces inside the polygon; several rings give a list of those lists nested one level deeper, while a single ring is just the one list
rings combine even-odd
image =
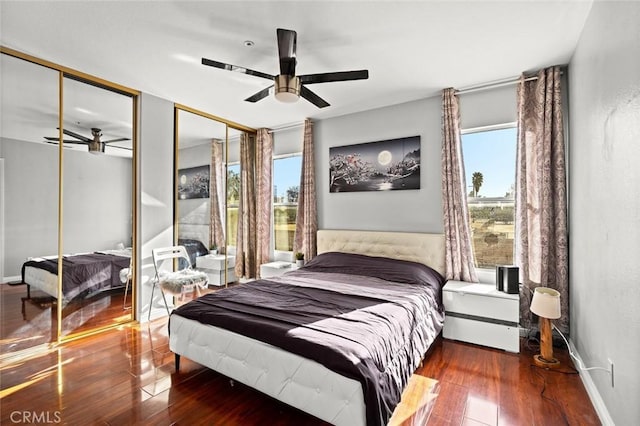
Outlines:
[{"label": "plain gray wall at far right with electrical outlet", "polygon": [[617,425],[640,422],[640,3],[594,2],[569,67],[571,337]]}]

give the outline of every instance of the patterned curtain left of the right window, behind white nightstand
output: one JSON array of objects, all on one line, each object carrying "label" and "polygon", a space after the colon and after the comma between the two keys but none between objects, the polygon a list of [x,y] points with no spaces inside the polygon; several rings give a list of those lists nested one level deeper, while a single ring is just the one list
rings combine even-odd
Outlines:
[{"label": "patterned curtain left of the right window, behind white nightstand", "polygon": [[445,278],[477,282],[465,185],[460,109],[455,90],[449,88],[442,91],[442,208]]}]

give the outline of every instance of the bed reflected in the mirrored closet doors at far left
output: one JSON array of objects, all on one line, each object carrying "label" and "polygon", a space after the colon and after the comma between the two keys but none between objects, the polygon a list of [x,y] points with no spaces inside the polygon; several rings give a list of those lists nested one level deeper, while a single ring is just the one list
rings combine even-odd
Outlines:
[{"label": "bed reflected in the mirrored closet doors at far left", "polygon": [[[129,268],[131,249],[104,250],[93,253],[64,255],[62,260],[63,304],[95,295],[105,290],[123,287],[120,277]],[[27,260],[22,265],[22,282],[27,284],[27,299],[31,288],[58,297],[58,257],[45,256]]]}]

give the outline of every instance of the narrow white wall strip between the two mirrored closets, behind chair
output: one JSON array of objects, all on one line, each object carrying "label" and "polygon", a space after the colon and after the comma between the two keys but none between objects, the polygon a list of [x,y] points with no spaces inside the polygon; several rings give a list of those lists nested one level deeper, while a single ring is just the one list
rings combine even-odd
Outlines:
[{"label": "narrow white wall strip between the two mirrored closets, behind chair", "polygon": [[[138,312],[147,321],[153,261],[151,250],[173,245],[173,103],[142,94],[140,100],[138,206]],[[167,315],[155,292],[151,318]]]}]

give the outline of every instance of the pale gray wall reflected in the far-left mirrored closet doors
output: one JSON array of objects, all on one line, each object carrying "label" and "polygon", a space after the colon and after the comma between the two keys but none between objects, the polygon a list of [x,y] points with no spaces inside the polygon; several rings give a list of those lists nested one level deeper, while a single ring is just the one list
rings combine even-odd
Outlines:
[{"label": "pale gray wall reflected in the far-left mirrored closet doors", "polygon": [[[20,275],[28,257],[58,252],[58,147],[0,141],[5,159],[4,273]],[[64,153],[65,253],[113,249],[131,241],[131,160]]]}]

